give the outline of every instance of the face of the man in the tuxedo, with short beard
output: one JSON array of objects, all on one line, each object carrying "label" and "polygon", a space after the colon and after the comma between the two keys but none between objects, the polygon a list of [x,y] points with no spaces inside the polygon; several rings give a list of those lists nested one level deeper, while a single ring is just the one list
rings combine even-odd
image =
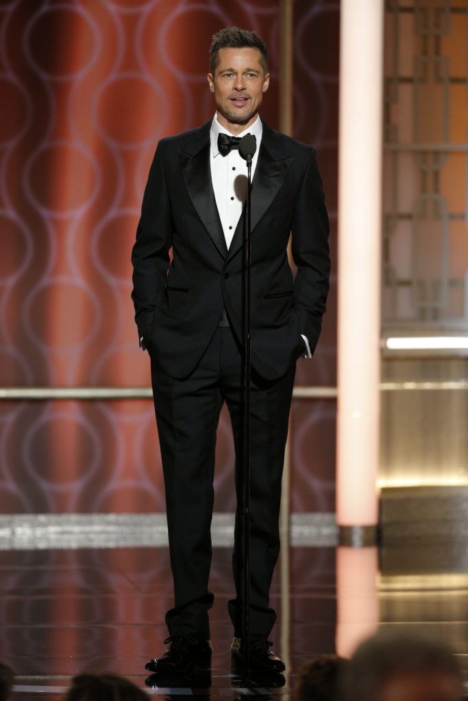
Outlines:
[{"label": "face of the man in the tuxedo, with short beard", "polygon": [[257,118],[263,93],[269,85],[258,48],[221,48],[208,85],[215,95],[218,119],[229,131],[239,133]]}]

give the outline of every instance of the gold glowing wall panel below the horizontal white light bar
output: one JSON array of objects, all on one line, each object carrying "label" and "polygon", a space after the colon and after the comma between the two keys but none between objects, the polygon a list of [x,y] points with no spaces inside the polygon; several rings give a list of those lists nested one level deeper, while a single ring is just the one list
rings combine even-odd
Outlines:
[{"label": "gold glowing wall panel below the horizontal white light bar", "polygon": [[[467,358],[387,358],[384,382],[459,381]],[[468,484],[466,390],[383,392],[380,484]]]}]

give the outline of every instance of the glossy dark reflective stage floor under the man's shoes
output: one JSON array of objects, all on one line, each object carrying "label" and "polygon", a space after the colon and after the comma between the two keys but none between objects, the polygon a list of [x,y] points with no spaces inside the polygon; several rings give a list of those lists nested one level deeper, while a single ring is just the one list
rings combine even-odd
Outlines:
[{"label": "glossy dark reflective stage floor under the man's shoes", "polygon": [[[80,672],[112,671],[168,697],[292,694],[297,669],[313,655],[347,654],[379,625],[430,630],[450,644],[468,682],[468,572],[437,547],[290,547],[276,569],[274,650],[287,662],[285,686],[249,689],[232,679],[231,550],[213,552],[210,686],[147,688],[145,662],[159,655],[171,606],[166,547],[0,552],[0,661],[16,674],[12,700],[58,700]],[[455,557],[455,562],[457,558]],[[468,689],[467,689],[468,691]]]}]

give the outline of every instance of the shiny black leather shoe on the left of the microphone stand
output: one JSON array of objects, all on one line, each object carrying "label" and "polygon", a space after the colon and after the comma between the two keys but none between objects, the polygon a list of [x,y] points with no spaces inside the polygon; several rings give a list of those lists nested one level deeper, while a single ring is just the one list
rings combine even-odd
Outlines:
[{"label": "shiny black leather shoe on the left of the microphone stand", "polygon": [[210,669],[213,648],[209,640],[177,635],[166,638],[164,642],[169,645],[166,652],[146,663],[148,672],[193,674]]}]

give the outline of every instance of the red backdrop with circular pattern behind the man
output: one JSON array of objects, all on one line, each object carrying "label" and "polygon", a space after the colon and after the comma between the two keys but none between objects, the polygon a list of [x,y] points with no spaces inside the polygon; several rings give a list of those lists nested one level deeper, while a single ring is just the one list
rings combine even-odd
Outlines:
[{"label": "red backdrop with circular pattern behind the man", "polygon": [[[338,0],[294,3],[294,136],[314,144],[335,257]],[[131,304],[131,247],[159,138],[212,116],[210,36],[269,46],[262,116],[278,126],[275,0],[15,0],[0,4],[0,384],[148,386]],[[335,270],[335,268],[333,268]],[[335,273],[316,357],[296,383],[335,384]],[[294,511],[334,510],[335,403],[295,400]],[[164,509],[145,401],[0,404],[0,509]],[[216,503],[234,510],[227,414]]]}]

